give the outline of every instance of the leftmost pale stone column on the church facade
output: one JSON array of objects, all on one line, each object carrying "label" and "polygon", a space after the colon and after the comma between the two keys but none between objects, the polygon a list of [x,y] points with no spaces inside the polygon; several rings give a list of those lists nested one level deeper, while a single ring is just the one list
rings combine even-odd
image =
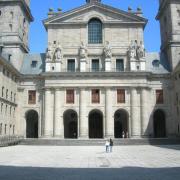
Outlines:
[{"label": "leftmost pale stone column on the church facade", "polygon": [[54,97],[50,89],[45,90],[44,136],[53,136]]}]

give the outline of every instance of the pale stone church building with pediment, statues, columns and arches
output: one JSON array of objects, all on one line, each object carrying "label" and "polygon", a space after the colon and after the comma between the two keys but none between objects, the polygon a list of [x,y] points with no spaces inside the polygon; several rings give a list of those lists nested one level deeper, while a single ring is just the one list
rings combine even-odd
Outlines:
[{"label": "pale stone church building with pediment, statues, columns and arches", "polygon": [[[15,83],[10,80],[11,86],[0,81],[18,98],[12,104],[13,132],[59,139],[177,136],[179,12],[179,1],[160,1],[162,50],[148,53],[147,19],[140,8],[125,12],[87,0],[68,12],[50,9],[43,21],[47,51],[29,54],[29,1],[0,2],[1,61],[7,63],[2,63],[0,77],[5,76],[4,67],[17,78]],[[8,39],[9,34],[14,39]],[[3,128],[5,118],[0,117]]]}]

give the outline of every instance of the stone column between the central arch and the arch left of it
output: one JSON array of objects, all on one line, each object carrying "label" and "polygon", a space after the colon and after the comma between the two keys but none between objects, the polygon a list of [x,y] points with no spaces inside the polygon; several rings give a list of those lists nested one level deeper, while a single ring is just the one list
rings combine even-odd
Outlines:
[{"label": "stone column between the central arch and the arch left of it", "polygon": [[86,112],[86,90],[80,89],[79,95],[79,137],[88,138],[88,118]]}]

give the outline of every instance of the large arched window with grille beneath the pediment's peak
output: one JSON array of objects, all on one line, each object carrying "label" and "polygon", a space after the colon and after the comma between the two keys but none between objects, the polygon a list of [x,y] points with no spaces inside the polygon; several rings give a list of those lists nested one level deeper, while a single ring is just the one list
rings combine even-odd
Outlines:
[{"label": "large arched window with grille beneath the pediment's peak", "polygon": [[89,44],[102,43],[102,23],[99,19],[91,19],[88,23]]}]

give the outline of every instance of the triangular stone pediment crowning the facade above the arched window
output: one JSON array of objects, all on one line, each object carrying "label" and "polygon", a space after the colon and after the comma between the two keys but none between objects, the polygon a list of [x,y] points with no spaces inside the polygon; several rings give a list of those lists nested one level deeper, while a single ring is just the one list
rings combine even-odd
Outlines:
[{"label": "triangular stone pediment crowning the facade above the arched window", "polygon": [[52,24],[87,23],[91,18],[99,18],[104,23],[141,23],[147,20],[133,13],[128,13],[103,4],[81,6],[72,11],[55,15],[44,21],[45,26]]}]

